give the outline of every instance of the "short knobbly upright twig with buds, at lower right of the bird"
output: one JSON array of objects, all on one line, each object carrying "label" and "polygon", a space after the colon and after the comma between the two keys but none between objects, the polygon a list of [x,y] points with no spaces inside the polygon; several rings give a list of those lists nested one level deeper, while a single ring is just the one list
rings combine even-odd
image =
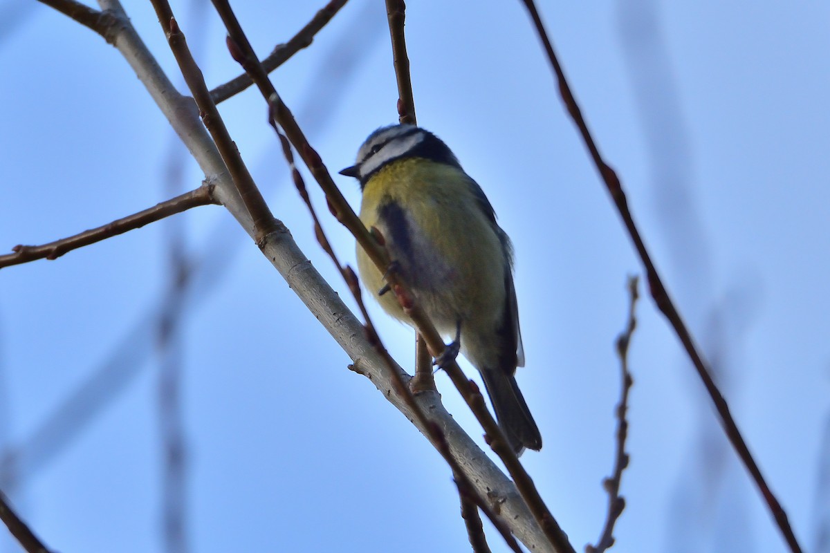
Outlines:
[{"label": "short knobbly upright twig with buds, at lower right of the bird", "polygon": [[620,495],[620,483],[623,480],[623,471],[628,466],[628,454],[625,452],[625,441],[628,436],[628,392],[634,384],[631,371],[628,370],[628,347],[631,345],[631,337],[634,329],[637,328],[637,299],[640,293],[637,290],[639,279],[636,276],[628,279],[628,322],[622,334],[617,338],[617,355],[620,358],[620,401],[617,405],[617,451],[614,455],[614,468],[610,478],[605,478],[603,487],[608,492],[608,513],[605,518],[605,526],[599,535],[596,546],[586,546],[585,553],[603,553],[614,545],[614,525],[625,508],[625,499]]}]

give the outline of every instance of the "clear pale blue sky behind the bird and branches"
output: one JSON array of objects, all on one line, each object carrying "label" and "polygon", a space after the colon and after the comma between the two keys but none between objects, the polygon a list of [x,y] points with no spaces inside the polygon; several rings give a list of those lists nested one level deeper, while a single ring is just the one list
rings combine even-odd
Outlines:
[{"label": "clear pale blue sky behind the bird and branches", "polygon": [[[519,381],[544,436],[523,460],[581,550],[606,512],[613,342],[627,275],[641,266],[521,3],[409,3],[418,122],[454,150],[515,244]],[[322,5],[234,7],[264,56]],[[125,9],[180,83],[149,2]],[[237,75],[212,9],[173,10],[208,84]],[[830,517],[830,5],[629,0],[540,2],[540,11],[760,468],[802,545],[830,551],[818,543]],[[2,0],[0,68],[3,250],[201,181],[120,54],[61,14]],[[366,135],[397,118],[383,2],[352,0],[273,75],[330,171],[353,163]],[[221,111],[274,214],[349,302],[261,96],[248,90]],[[354,263],[352,238],[307,180],[341,259]],[[354,181],[337,181],[357,207]],[[176,228],[196,268],[162,354],[154,321]],[[411,366],[412,332],[372,308],[384,342]],[[638,315],[614,551],[784,551],[673,333],[648,298]],[[0,270],[4,485],[56,551],[165,551],[159,374],[170,359],[182,363],[189,551],[468,551],[446,464],[346,369],[344,352],[217,206]],[[446,376],[437,383],[479,436]]]}]

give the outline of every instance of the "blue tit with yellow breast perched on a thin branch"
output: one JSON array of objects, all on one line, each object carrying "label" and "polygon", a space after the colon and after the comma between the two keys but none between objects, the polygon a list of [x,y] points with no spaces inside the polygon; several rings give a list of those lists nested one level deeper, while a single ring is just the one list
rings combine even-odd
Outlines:
[{"label": "blue tit with yellow breast perched on a thin branch", "polygon": [[[541,449],[539,428],[515,381],[525,354],[513,248],[481,187],[447,144],[407,124],[374,131],[357,163],[340,174],[359,180],[360,220],[383,235],[415,302],[442,335],[456,337],[461,353],[481,372],[512,449]],[[377,295],[383,272],[360,246],[357,261],[364,284]],[[393,296],[380,294],[378,301],[412,325]]]}]

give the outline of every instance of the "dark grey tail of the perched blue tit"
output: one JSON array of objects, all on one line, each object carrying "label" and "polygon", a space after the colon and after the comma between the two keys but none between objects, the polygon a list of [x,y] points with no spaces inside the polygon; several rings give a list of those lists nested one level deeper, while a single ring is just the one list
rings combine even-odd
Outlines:
[{"label": "dark grey tail of the perched blue tit", "polygon": [[496,410],[496,419],[513,451],[520,455],[525,448],[542,449],[542,435],[533,415],[530,415],[515,376],[500,369],[486,369],[481,371],[481,378]]}]

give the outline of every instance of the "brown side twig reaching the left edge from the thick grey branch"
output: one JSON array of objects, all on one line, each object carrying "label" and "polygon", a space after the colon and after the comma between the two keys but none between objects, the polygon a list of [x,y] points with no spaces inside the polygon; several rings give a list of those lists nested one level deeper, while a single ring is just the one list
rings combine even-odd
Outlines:
[{"label": "brown side twig reaching the left edge from the thick grey branch", "polygon": [[85,245],[95,244],[95,242],[106,240],[112,236],[124,234],[128,230],[141,228],[148,223],[159,221],[193,207],[217,204],[212,191],[212,185],[203,185],[196,190],[185,192],[168,201],[162,201],[144,211],[139,211],[123,219],[117,219],[95,229],[84,230],[80,234],[68,238],[61,238],[61,240],[55,240],[44,245],[16,245],[12,248],[13,254],[0,255],[0,269],[34,260],[56,260],[68,251],[77,250]]}]

